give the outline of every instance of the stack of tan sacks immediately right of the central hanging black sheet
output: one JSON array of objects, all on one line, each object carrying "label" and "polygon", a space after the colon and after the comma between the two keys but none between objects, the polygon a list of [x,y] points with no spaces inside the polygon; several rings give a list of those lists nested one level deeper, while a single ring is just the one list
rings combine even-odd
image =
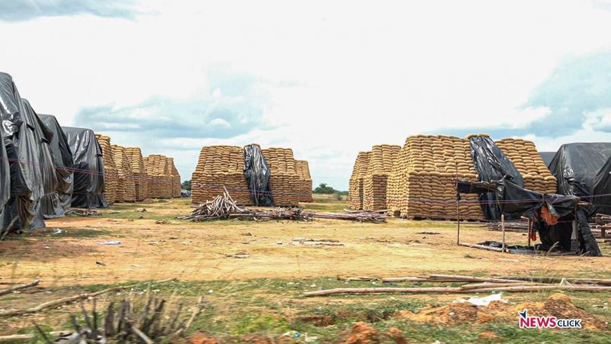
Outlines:
[{"label": "stack of tan sacks immediately right of the central hanging black sheet", "polygon": [[300,200],[300,182],[292,149],[268,148],[261,153],[269,165],[269,187],[273,204],[291,206]]}]

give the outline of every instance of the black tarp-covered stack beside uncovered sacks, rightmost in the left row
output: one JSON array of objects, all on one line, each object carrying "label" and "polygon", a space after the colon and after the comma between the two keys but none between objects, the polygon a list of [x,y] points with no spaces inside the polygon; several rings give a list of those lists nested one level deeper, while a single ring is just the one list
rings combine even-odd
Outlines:
[{"label": "black tarp-covered stack beside uncovered sacks, rightmost in the left row", "polygon": [[106,208],[104,162],[101,147],[91,129],[62,126],[75,164],[72,207]]}]

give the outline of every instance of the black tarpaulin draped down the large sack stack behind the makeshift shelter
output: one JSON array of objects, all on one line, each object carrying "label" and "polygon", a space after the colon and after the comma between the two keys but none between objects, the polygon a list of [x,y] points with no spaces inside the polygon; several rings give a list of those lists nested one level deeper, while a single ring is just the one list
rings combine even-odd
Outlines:
[{"label": "black tarpaulin draped down the large sack stack behind the makeshift shelter", "polygon": [[[520,172],[490,137],[472,136],[469,138],[469,145],[480,182],[496,182],[505,179],[514,182],[519,187],[524,187],[524,179]],[[501,219],[496,193],[481,193],[479,201],[487,220]]]}]

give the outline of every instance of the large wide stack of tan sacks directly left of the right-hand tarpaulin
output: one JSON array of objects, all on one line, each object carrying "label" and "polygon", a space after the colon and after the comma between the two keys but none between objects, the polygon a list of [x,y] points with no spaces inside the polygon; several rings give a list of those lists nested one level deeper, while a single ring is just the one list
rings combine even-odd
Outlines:
[{"label": "large wide stack of tan sacks directly left of the right-hand tarpaulin", "polygon": [[[445,135],[407,137],[387,187],[389,210],[415,218],[457,218],[456,177],[477,180],[469,140]],[[477,195],[463,195],[460,217],[483,217],[473,203]],[[470,203],[469,203],[470,202]]]}]

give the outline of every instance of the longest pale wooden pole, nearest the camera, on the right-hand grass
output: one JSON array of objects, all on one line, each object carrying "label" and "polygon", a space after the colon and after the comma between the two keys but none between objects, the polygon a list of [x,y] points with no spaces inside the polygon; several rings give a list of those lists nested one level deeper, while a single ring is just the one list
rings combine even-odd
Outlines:
[{"label": "longest pale wooden pole, nearest the camera, on the right-hand grass", "polygon": [[568,290],[576,292],[611,292],[611,287],[574,286],[574,285],[518,285],[515,287],[491,287],[479,289],[460,289],[460,287],[438,288],[336,288],[305,292],[304,296],[327,296],[336,294],[460,294],[479,292],[541,292],[544,290]]}]

